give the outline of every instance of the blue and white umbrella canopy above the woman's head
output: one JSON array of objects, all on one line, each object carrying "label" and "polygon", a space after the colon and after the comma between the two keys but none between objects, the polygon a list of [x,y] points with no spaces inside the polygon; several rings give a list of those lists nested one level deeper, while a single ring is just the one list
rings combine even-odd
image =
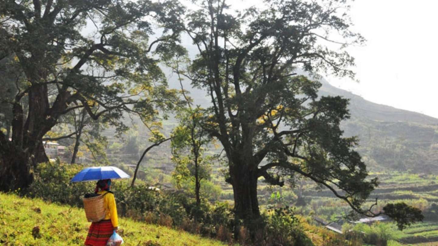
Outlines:
[{"label": "blue and white umbrella canopy above the woman's head", "polygon": [[76,174],[70,182],[93,181],[100,179],[129,179],[126,172],[113,166],[88,167]]}]

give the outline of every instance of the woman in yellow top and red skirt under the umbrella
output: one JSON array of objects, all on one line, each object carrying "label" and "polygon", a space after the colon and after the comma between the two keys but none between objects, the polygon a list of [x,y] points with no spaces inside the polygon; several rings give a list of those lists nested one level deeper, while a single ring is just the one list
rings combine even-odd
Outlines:
[{"label": "woman in yellow top and red skirt under the umbrella", "polygon": [[106,246],[106,242],[113,235],[113,231],[117,232],[118,218],[116,200],[114,194],[110,190],[111,179],[99,180],[96,184],[95,193],[103,195],[103,202],[106,208],[106,215],[99,222],[92,222],[88,230],[85,245],[88,246]]}]

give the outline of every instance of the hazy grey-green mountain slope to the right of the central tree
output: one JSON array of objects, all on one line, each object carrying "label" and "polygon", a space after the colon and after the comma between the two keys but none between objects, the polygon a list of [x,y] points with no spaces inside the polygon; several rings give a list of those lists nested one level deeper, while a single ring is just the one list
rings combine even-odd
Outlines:
[{"label": "hazy grey-green mountain slope to the right of the central tree", "polygon": [[365,100],[321,80],[319,95],[350,99],[345,136],[357,136],[357,151],[374,171],[388,169],[438,173],[438,119]]}]

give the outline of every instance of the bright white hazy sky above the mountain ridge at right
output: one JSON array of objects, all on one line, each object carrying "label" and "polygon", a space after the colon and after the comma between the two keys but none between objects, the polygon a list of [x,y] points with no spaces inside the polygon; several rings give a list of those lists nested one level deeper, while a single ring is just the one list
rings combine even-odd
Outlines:
[{"label": "bright white hazy sky above the mountain ridge at right", "polygon": [[357,78],[329,82],[365,99],[438,118],[438,1],[357,0],[354,30],[368,40],[349,50]]}]

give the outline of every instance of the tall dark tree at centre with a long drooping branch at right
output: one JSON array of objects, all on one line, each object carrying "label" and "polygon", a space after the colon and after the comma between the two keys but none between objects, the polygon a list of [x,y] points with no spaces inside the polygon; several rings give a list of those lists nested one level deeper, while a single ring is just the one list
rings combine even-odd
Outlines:
[{"label": "tall dark tree at centre with a long drooping branch at right", "polygon": [[[353,150],[357,139],[339,129],[349,118],[348,99],[318,98],[321,84],[297,74],[300,68],[354,78],[354,59],[342,48],[364,39],[350,30],[349,1],[267,0],[264,9],[236,14],[222,0],[195,2],[200,9],[187,12],[185,31],[198,56],[181,74],[211,99],[204,127],[228,158],[237,218],[260,218],[259,178],[283,186],[285,176],[314,181],[360,214],[395,215],[389,207],[377,214],[362,207],[378,182]],[[398,208],[407,220],[399,213],[392,216],[397,222],[422,219],[415,209]]]}]

